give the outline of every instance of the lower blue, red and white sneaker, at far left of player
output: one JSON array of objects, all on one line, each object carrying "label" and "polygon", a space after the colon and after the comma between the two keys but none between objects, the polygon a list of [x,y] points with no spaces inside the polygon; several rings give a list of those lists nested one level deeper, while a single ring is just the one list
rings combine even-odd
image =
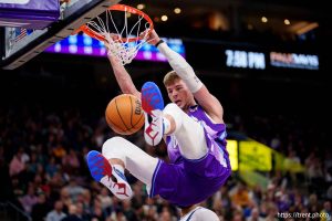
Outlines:
[{"label": "lower blue, red and white sneaker, at far left of player", "polygon": [[132,198],[133,191],[124,173],[113,167],[101,152],[91,150],[86,155],[86,161],[93,179],[107,187],[121,200]]}]

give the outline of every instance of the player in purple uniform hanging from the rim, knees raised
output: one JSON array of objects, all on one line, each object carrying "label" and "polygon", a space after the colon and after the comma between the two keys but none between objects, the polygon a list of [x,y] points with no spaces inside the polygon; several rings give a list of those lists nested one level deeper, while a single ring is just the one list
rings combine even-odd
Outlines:
[{"label": "player in purple uniform hanging from the rim, knees raised", "polygon": [[155,31],[147,41],[157,46],[174,70],[164,77],[172,101],[165,108],[157,85],[147,82],[139,93],[121,62],[110,53],[108,59],[122,92],[142,99],[145,140],[156,146],[164,137],[170,164],[147,155],[122,137],[113,137],[103,144],[102,154],[89,152],[87,165],[93,178],[120,199],[132,196],[124,176],[127,169],[146,185],[149,197],[158,194],[188,209],[214,194],[230,176],[224,109],[185,59]]}]

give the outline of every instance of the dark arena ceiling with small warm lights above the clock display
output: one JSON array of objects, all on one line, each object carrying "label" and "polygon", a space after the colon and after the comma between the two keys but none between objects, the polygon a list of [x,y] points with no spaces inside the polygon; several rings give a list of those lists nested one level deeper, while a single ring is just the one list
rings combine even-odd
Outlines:
[{"label": "dark arena ceiling with small warm lights above the clock display", "polygon": [[[155,21],[156,27],[199,27],[221,29],[255,29],[277,34],[302,34],[329,23],[331,13],[323,1],[312,0],[134,0],[131,6],[144,4],[144,11]],[[319,3],[318,3],[319,2]],[[181,13],[176,14],[175,8]],[[167,15],[167,21],[162,21]],[[262,22],[266,17],[268,22]],[[288,20],[288,21],[286,21]],[[288,22],[289,24],[286,24]],[[326,28],[325,32],[330,32]],[[189,34],[189,33],[188,33]]]}]

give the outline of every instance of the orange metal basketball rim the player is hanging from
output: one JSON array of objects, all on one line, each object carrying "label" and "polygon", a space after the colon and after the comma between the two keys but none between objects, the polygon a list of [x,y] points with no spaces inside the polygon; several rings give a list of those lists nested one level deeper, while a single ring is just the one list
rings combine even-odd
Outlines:
[{"label": "orange metal basketball rim the player is hanging from", "polygon": [[[141,11],[136,8],[128,7],[128,6],[125,6],[125,4],[114,4],[114,6],[110,7],[107,10],[124,11],[124,12],[129,12],[129,13],[133,13],[133,14],[141,15],[149,23],[149,30],[147,32],[147,35],[149,35],[151,32],[154,30],[154,23],[153,23],[152,19],[146,13],[144,13],[143,11]],[[94,39],[97,39],[100,41],[106,42],[106,39],[102,34],[100,34],[98,32],[90,29],[86,24],[83,24],[77,30],[77,32],[80,32],[80,31],[84,32],[85,34],[87,34],[91,38],[94,38]],[[136,38],[122,38],[121,40],[123,42],[134,42],[134,41],[138,41],[141,39],[142,38],[136,36]]]}]

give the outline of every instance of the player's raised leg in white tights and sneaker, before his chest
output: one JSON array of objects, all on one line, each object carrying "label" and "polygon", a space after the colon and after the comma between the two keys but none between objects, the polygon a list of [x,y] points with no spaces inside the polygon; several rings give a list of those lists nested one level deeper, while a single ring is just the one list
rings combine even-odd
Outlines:
[{"label": "player's raised leg in white tights and sneaker, before his chest", "polygon": [[153,82],[142,87],[142,107],[152,117],[145,117],[145,140],[155,146],[163,135],[174,134],[179,143],[181,155],[187,159],[199,159],[208,149],[203,126],[184,113],[176,104],[164,108],[162,93]]}]

